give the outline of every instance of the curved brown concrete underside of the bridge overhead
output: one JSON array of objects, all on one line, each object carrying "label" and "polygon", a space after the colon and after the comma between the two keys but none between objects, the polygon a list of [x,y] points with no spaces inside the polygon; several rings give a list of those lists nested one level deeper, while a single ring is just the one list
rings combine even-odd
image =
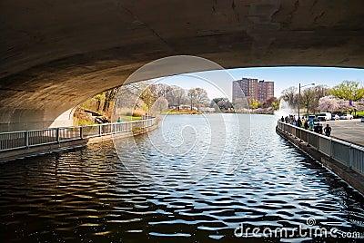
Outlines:
[{"label": "curved brown concrete underside of the bridge overhead", "polygon": [[2,0],[0,30],[0,131],[66,124],[79,102],[170,55],[364,67],[362,0]]}]

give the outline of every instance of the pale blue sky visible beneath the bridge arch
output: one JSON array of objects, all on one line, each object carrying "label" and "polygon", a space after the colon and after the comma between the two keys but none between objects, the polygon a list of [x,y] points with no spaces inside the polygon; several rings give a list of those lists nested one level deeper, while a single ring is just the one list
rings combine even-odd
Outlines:
[{"label": "pale blue sky visible beneath the bridge arch", "polygon": [[[224,71],[213,71],[213,73]],[[358,81],[364,84],[364,69],[355,68],[334,68],[334,67],[258,67],[258,68],[238,68],[229,69],[227,72],[233,80],[242,77],[258,78],[259,80],[275,82],[275,96],[279,97],[282,90],[289,86],[297,86],[298,83],[305,85],[315,83],[316,85],[325,84],[333,87],[344,80]],[[207,73],[207,72],[202,72]],[[210,99],[227,96],[231,99],[231,80],[216,85],[194,78],[190,75],[177,75],[163,78],[160,83],[174,84],[184,89],[202,87],[207,90]],[[217,88],[221,88],[223,91]],[[224,86],[224,87],[222,87]],[[226,93],[226,95],[224,95]]]}]

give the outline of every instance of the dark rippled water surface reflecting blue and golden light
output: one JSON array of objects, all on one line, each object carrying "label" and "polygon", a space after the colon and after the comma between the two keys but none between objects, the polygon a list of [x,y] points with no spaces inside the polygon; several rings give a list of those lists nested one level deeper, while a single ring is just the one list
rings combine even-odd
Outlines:
[{"label": "dark rippled water surface reflecting blue and golden light", "polygon": [[243,241],[234,235],[241,224],[292,229],[307,219],[362,233],[362,196],[275,125],[264,115],[167,116],[157,130],[115,146],[2,163],[1,238]]}]

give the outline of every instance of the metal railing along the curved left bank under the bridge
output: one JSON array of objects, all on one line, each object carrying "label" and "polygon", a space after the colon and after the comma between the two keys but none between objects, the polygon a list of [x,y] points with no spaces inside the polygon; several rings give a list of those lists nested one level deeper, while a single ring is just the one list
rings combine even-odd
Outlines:
[{"label": "metal railing along the curved left bank under the bridge", "polygon": [[46,128],[30,131],[9,131],[0,133],[0,152],[30,147],[76,141],[93,137],[101,137],[119,132],[132,131],[153,126],[157,119],[147,117],[146,120],[124,121],[77,127]]}]

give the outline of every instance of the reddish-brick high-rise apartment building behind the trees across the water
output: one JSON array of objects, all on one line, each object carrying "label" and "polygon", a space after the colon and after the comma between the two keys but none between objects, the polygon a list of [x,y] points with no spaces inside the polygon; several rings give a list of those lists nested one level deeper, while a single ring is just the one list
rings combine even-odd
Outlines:
[{"label": "reddish-brick high-rise apartment building behind the trees across the water", "polygon": [[274,82],[251,78],[242,78],[233,82],[233,102],[238,98],[265,102],[271,97],[274,97]]}]

